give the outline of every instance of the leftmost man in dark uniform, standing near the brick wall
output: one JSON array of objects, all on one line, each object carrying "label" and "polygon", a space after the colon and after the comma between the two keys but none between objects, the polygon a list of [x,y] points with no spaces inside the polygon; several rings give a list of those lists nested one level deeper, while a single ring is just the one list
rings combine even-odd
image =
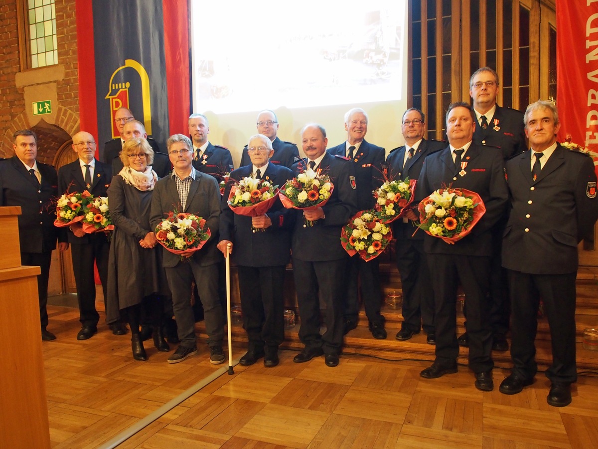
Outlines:
[{"label": "leftmost man in dark uniform, standing near the brick wall", "polygon": [[[56,249],[59,229],[54,226],[58,181],[53,166],[38,162],[37,136],[29,129],[13,135],[14,156],[0,161],[0,207],[20,206],[19,245],[22,265],[39,266],[37,277],[41,339],[50,341],[56,335],[47,330],[48,279],[50,259]],[[60,242],[61,251],[68,248]]]}]

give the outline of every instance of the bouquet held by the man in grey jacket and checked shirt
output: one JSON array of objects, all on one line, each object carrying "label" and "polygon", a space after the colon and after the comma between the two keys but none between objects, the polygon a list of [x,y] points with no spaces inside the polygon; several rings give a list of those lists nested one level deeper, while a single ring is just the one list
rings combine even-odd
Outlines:
[{"label": "bouquet held by the man in grey jacket and checked shirt", "polygon": [[188,213],[169,212],[166,219],[155,227],[158,243],[173,254],[191,256],[208,241],[212,232],[204,230],[206,220]]}]

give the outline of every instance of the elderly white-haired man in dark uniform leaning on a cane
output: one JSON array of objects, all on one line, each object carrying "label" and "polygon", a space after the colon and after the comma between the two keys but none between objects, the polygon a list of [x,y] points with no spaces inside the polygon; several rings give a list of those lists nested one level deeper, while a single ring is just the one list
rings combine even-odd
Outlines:
[{"label": "elderly white-haired man in dark uniform leaning on a cane", "polygon": [[[270,163],[274,150],[267,136],[252,136],[248,151],[251,165],[233,171],[231,180],[255,177],[282,187],[294,176],[291,169]],[[295,211],[284,208],[276,199],[264,215],[234,214],[227,203],[231,186],[227,185],[222,198],[218,248],[227,257],[227,245],[233,245],[231,258],[239,274],[243,329],[249,341],[247,353],[239,363],[249,366],[264,357],[264,366],[276,366],[278,347],[285,338],[283,287],[286,264],[291,259]],[[252,232],[252,226],[264,232]]]}]

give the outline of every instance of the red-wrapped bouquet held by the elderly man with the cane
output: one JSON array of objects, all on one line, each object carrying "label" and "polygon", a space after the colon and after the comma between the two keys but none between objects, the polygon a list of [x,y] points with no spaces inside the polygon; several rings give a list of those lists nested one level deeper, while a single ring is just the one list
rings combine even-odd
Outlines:
[{"label": "red-wrapped bouquet held by the elderly man with the cane", "polygon": [[[254,177],[245,177],[240,181],[235,181],[228,195],[228,207],[238,215],[246,217],[258,217],[264,215],[270,210],[276,196],[278,195],[278,186],[273,186],[270,181],[257,179]],[[251,226],[251,230],[265,231],[266,229],[256,229]]]}]

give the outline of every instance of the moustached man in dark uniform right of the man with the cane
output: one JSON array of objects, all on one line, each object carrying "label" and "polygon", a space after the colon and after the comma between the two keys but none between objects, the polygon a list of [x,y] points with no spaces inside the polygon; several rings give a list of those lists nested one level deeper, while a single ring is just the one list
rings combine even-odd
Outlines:
[{"label": "moustached man in dark uniform right of the man with the cane", "polygon": [[[325,354],[326,365],[337,366],[343,345],[343,285],[349,258],[340,233],[357,211],[355,176],[346,157],[326,152],[328,139],[321,125],[306,125],[301,142],[307,157],[295,163],[295,173],[311,168],[327,174],[334,190],[324,207],[296,211],[292,262],[301,316],[299,338],[305,347],[293,362],[303,363]],[[304,227],[304,220],[314,222],[313,226]],[[326,304],[324,335],[320,335],[320,302]]]}]

